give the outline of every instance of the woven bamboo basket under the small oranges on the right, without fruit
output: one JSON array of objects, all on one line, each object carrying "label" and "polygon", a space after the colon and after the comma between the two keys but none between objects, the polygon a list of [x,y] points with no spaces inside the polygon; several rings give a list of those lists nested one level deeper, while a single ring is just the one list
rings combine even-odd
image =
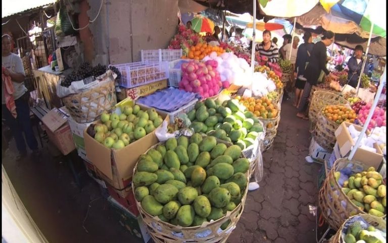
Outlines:
[{"label": "woven bamboo basket under the small oranges on the right, without fruit", "polygon": [[340,127],[340,124],[327,119],[322,112],[319,112],[317,124],[313,132],[315,141],[327,151],[332,151],[336,141],[334,133],[338,127]]}]

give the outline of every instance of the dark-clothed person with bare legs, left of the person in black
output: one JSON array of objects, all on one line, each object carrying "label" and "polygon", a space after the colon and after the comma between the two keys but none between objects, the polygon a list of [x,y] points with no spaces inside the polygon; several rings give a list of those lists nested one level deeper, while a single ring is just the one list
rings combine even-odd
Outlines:
[{"label": "dark-clothed person with bare legs, left of the person in black", "polygon": [[297,59],[295,60],[295,73],[294,76],[297,78],[295,82],[295,100],[294,106],[298,107],[301,101],[301,95],[303,88],[306,84],[305,69],[309,62],[311,53],[313,51],[314,43],[311,33],[306,31],[303,35],[304,43],[298,48]]}]

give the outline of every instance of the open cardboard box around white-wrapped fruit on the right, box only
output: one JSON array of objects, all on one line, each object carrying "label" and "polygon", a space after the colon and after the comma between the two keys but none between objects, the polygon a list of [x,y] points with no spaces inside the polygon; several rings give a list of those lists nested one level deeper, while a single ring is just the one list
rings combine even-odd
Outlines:
[{"label": "open cardboard box around white-wrapped fruit on the right, box only", "polygon": [[[356,141],[353,141],[353,138],[350,136],[350,133],[348,131],[348,127],[350,125],[352,124],[344,122],[340,125],[340,127],[338,127],[338,129],[334,133],[337,140],[334,147],[338,146],[338,156],[340,156],[341,158],[349,156],[353,146],[356,144]],[[362,130],[362,127],[360,126],[354,125],[354,127],[357,131]],[[369,135],[369,131],[367,131],[366,134]],[[371,152],[363,148],[357,148],[353,158],[364,163],[367,166],[373,166],[377,170],[381,165],[383,155],[377,143],[374,144],[374,148],[376,149],[376,152]]]}]

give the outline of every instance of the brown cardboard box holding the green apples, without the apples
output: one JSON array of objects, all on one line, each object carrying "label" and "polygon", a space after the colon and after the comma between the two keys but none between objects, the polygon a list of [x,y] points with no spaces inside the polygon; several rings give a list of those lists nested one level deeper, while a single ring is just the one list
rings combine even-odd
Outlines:
[{"label": "brown cardboard box holding the green apples, without the apples", "polygon": [[[139,105],[142,110],[146,107]],[[158,113],[164,120],[169,122],[168,116]],[[99,123],[94,121],[93,123]],[[160,125],[162,126],[162,125]],[[138,157],[146,152],[151,146],[158,143],[155,130],[143,138],[130,143],[122,149],[109,149],[103,144],[90,137],[86,129],[83,133],[86,155],[89,161],[101,173],[101,177],[115,189],[123,189],[131,182],[133,169]]]}]

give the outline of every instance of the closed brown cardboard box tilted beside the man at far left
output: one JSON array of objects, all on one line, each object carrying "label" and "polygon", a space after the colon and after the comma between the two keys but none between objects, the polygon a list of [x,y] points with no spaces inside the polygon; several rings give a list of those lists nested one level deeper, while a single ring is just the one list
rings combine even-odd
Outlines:
[{"label": "closed brown cardboard box tilted beside the man at far left", "polygon": [[68,116],[57,108],[52,109],[42,117],[42,123],[49,140],[55,144],[63,155],[67,155],[75,149],[73,136],[67,120]]}]

